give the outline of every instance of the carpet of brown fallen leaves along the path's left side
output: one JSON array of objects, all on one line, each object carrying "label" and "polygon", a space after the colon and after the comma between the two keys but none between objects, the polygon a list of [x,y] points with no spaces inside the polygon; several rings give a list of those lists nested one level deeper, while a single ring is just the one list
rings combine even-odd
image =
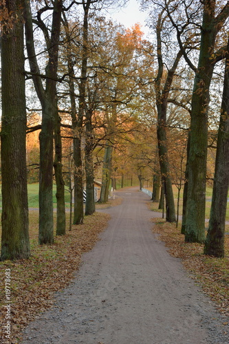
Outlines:
[{"label": "carpet of brown fallen leaves along the path's left side", "polygon": [[[112,204],[115,205],[115,204]],[[38,216],[34,213],[32,216]],[[85,217],[84,224],[72,226],[72,231],[55,238],[54,245],[39,246],[38,230],[32,233],[30,259],[1,262],[1,312],[0,319],[6,325],[5,271],[10,269],[10,341],[4,330],[1,343],[19,343],[23,327],[34,320],[38,314],[50,308],[54,292],[61,290],[74,278],[80,266],[81,255],[93,248],[99,233],[107,227],[109,215],[94,213]],[[9,302],[8,302],[9,303]]]}]

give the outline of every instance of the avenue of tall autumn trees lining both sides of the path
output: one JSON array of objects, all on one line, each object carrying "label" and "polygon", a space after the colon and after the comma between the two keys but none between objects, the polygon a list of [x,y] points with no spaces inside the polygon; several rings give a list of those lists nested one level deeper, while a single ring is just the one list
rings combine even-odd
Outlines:
[{"label": "avenue of tall autumn trees lining both sides of the path", "polygon": [[[65,184],[74,193],[71,224],[107,202],[116,176],[153,181],[182,234],[223,257],[229,183],[229,2],[142,0],[153,39],[102,16],[112,0],[6,0],[1,20],[1,260],[30,257],[26,134],[39,131],[39,244],[65,235]],[[39,118],[32,124],[32,116]],[[215,173],[205,229],[209,149]],[[35,150],[33,151],[35,152]],[[34,160],[32,160],[34,159]],[[74,185],[74,188],[72,187]],[[173,185],[177,186],[175,212]],[[86,190],[85,210],[83,189]]]}]

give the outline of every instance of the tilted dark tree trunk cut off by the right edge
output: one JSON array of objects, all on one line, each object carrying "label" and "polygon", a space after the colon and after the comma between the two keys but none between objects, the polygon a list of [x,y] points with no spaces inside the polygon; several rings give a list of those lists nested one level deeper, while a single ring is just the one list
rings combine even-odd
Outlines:
[{"label": "tilted dark tree trunk cut off by the right edge", "polygon": [[[228,41],[229,51],[229,41]],[[229,185],[229,53],[226,53],[226,67],[223,83],[221,116],[217,136],[215,176],[210,208],[208,235],[204,246],[205,255],[224,257],[224,233]]]}]

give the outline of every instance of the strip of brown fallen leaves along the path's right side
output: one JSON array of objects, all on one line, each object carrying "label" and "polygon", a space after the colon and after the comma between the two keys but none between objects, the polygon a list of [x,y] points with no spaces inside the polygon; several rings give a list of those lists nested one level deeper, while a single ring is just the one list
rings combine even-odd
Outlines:
[{"label": "strip of brown fallen leaves along the path's right side", "polygon": [[[229,236],[225,238],[225,257],[215,258],[203,254],[203,244],[184,242],[184,235],[175,224],[154,218],[153,232],[165,242],[169,253],[182,259],[190,276],[199,283],[205,294],[217,303],[219,312],[229,316]],[[228,229],[227,229],[228,231]]]}]

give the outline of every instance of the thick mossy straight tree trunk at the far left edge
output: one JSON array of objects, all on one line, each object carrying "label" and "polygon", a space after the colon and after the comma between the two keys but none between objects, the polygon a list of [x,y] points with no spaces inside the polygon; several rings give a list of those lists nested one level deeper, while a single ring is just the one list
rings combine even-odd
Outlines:
[{"label": "thick mossy straight tree trunk at the far left edge", "polygon": [[23,1],[7,1],[17,15],[1,37],[1,260],[30,256],[26,169],[26,107],[23,45]]}]

